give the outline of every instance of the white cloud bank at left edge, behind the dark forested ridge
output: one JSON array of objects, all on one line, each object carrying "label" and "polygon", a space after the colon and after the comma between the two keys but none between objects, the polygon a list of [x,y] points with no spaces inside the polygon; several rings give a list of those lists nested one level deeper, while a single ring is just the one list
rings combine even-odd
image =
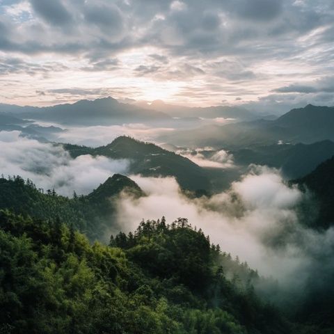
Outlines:
[{"label": "white cloud bank at left edge, behind the dark forested ridge", "polygon": [[19,132],[0,132],[3,175],[29,178],[39,188],[55,189],[72,197],[90,193],[114,173],[127,173],[129,161],[83,155],[72,159],[61,145],[40,143],[19,136]]}]

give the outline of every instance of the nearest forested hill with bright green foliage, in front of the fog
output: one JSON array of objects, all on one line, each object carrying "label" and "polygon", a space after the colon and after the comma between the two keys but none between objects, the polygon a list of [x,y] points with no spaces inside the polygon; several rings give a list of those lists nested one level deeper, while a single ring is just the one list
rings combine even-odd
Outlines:
[{"label": "nearest forested hill with bright green foliage, in front of the fog", "polygon": [[227,255],[184,219],[143,222],[104,246],[0,211],[0,244],[1,333],[311,333],[228,280]]}]

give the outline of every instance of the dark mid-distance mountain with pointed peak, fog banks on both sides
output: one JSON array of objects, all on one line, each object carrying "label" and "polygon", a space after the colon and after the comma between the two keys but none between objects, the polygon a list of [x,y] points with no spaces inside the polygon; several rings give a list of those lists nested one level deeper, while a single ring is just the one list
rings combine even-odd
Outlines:
[{"label": "dark mid-distance mountain with pointed peak, fog banks on both sides", "polygon": [[72,157],[91,154],[103,155],[111,159],[129,159],[129,173],[151,177],[173,176],[182,188],[191,191],[210,189],[207,174],[200,166],[152,143],[120,136],[109,145],[99,148],[71,144],[64,144],[63,147],[70,152]]}]

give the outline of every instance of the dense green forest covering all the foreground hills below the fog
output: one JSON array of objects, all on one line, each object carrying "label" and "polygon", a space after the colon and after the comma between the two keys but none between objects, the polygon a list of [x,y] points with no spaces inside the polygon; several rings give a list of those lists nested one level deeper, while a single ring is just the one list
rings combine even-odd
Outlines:
[{"label": "dense green forest covering all the foreground hills below the fog", "polygon": [[334,294],[321,277],[287,312],[276,280],[186,218],[94,241],[122,191],[145,196],[122,175],[73,198],[0,178],[0,333],[332,333]]}]

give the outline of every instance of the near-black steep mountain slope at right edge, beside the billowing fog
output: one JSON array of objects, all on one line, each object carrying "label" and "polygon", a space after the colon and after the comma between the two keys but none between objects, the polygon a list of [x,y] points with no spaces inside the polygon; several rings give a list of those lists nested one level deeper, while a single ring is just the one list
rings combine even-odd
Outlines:
[{"label": "near-black steep mountain slope at right edge, beside the billowing fog", "polygon": [[312,173],[292,183],[309,189],[315,195],[312,205],[319,209],[315,225],[321,228],[334,225],[334,156],[317,166]]}]

